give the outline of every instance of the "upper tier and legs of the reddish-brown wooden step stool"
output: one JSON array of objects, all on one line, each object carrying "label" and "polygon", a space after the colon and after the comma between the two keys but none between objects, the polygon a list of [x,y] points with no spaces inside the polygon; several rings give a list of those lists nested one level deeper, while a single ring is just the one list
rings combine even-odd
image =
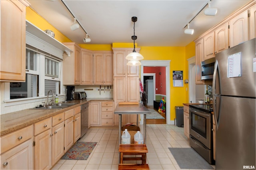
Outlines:
[{"label": "upper tier and legs of the reddish-brown wooden step stool", "polygon": [[[146,164],[148,148],[146,144],[119,144],[120,164],[124,160],[141,160],[142,164]],[[141,155],[141,157],[124,157],[124,155]]]}]

